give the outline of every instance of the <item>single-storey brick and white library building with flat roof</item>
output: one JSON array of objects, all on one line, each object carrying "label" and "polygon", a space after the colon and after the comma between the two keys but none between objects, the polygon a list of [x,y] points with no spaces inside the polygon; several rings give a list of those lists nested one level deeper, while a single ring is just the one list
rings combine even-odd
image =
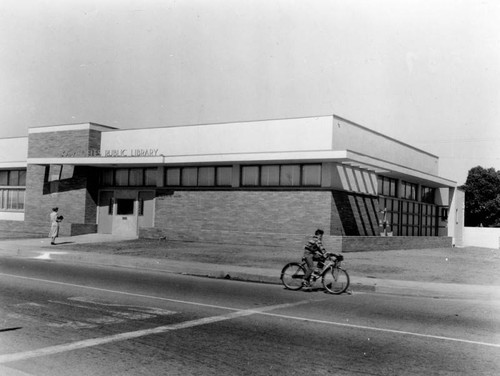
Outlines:
[{"label": "single-storey brick and white library building with flat roof", "polygon": [[460,243],[463,192],[439,158],[341,117],[117,129],[32,127],[0,139],[0,231],[303,246]]}]

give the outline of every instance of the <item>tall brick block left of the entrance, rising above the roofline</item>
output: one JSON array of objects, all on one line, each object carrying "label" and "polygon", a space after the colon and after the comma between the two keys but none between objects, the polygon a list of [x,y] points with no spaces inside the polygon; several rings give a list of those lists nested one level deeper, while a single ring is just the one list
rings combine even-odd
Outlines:
[{"label": "tall brick block left of the entrance, rising above the roofline", "polygon": [[[73,130],[32,133],[28,140],[30,158],[61,158],[75,153],[87,155],[100,146],[100,132]],[[61,178],[49,181],[49,166],[28,165],[26,174],[25,223],[36,233],[48,233],[53,207],[64,216],[63,236],[96,232],[98,173],[92,167],[62,168]]]}]

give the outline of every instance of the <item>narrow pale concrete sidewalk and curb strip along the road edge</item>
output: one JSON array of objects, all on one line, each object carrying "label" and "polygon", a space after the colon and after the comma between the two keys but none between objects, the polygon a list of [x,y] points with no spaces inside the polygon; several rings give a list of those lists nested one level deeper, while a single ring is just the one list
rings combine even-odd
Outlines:
[{"label": "narrow pale concrete sidewalk and curb strip along the road edge", "polygon": [[[0,249],[0,256],[95,266],[113,266],[196,277],[281,285],[280,271],[274,269],[206,264],[138,256],[73,252],[62,249],[60,251],[45,251],[40,250],[40,248]],[[360,277],[352,274],[350,277],[351,285],[349,291],[354,294],[356,292],[371,292],[422,298],[500,300],[499,286],[390,280]]]}]

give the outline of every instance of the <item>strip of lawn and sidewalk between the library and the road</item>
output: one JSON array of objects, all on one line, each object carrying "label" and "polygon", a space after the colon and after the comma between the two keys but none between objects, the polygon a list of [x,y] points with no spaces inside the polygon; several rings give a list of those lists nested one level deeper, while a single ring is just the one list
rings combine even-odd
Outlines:
[{"label": "strip of lawn and sidewalk between the library and the road", "polygon": [[[118,266],[272,284],[280,284],[281,267],[299,260],[300,256],[300,251],[241,245],[172,244],[158,240],[141,242],[98,234],[59,238],[57,246],[51,246],[46,238],[0,240],[0,257]],[[350,252],[344,257],[353,294],[377,292],[500,300],[498,250]]]}]

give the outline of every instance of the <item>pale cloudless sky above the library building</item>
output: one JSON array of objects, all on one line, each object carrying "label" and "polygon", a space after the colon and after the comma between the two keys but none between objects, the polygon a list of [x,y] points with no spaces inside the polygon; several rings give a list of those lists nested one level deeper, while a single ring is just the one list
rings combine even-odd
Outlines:
[{"label": "pale cloudless sky above the library building", "polygon": [[498,0],[0,0],[0,138],[338,115],[500,170]]}]

